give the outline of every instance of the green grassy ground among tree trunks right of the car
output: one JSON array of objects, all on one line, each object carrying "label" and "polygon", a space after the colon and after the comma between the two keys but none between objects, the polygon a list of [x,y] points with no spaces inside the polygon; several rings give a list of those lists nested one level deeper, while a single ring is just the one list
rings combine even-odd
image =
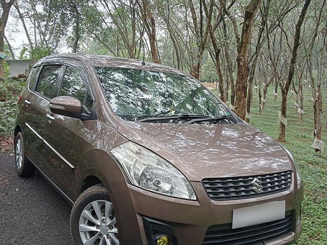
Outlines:
[{"label": "green grassy ground among tree trunks right of the car", "polygon": [[[325,142],[325,151],[315,153],[311,148],[313,142],[313,106],[311,91],[306,87],[303,119],[299,119],[296,111],[295,96],[289,96],[286,127],[286,143],[284,146],[297,160],[305,186],[305,198],[302,203],[303,233],[296,244],[298,245],[326,245],[327,244],[327,130],[323,128],[322,140]],[[278,92],[279,93],[279,92]],[[281,96],[273,101],[273,87],[268,91],[265,109],[259,115],[258,94],[253,93],[250,124],[265,132],[274,139],[278,138],[279,124],[278,110],[281,105]],[[327,87],[323,92],[323,115],[327,113]],[[324,125],[324,124],[323,124]]]}]

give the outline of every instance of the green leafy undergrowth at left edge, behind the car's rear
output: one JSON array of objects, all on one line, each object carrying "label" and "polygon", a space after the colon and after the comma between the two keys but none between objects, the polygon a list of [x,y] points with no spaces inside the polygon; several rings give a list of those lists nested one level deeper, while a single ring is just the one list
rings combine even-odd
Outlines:
[{"label": "green leafy undergrowth at left edge, behind the car's rear", "polygon": [[25,82],[25,79],[0,80],[0,134],[12,134],[17,100]]}]

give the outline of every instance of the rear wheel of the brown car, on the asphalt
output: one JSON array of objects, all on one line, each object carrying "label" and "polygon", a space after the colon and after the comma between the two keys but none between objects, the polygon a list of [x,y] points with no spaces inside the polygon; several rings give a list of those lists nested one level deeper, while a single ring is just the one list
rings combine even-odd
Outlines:
[{"label": "rear wheel of the brown car, on the asphalt", "polygon": [[27,177],[34,174],[35,168],[25,156],[24,139],[22,133],[18,132],[14,143],[14,156],[16,163],[16,174]]}]

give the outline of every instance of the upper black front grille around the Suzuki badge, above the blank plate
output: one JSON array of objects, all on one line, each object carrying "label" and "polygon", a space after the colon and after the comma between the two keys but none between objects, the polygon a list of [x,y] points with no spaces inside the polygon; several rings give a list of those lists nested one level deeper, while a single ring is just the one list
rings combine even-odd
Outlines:
[{"label": "upper black front grille around the Suzuki badge, above the blank plate", "polygon": [[[251,181],[254,179],[262,181],[260,193],[252,188]],[[203,179],[202,185],[209,198],[215,201],[237,200],[245,198],[262,197],[277,192],[288,190],[292,183],[292,171],[285,171],[276,174],[230,177],[217,179]]]}]

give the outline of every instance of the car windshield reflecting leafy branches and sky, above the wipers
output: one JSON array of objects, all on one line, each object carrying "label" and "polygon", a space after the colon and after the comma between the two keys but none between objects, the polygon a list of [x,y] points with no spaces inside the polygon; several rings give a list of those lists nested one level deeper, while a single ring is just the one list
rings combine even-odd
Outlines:
[{"label": "car windshield reflecting leafy branches and sky, above the wipers", "polygon": [[183,114],[215,118],[230,115],[211,92],[191,77],[141,69],[95,68],[112,110],[125,120]]}]

